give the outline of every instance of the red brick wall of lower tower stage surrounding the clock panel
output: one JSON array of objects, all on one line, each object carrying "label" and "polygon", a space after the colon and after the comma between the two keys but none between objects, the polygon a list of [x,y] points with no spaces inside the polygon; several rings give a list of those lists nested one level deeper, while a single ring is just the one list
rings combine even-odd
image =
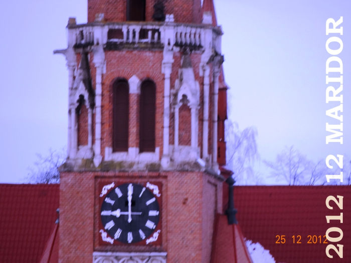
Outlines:
[{"label": "red brick wall of lower tower stage surrounding the clock panel", "polygon": [[[109,178],[162,184],[161,245],[99,246],[97,185]],[[221,187],[219,180],[202,172],[62,172],[60,262],[91,262],[94,250],[167,251],[168,262],[208,262]]]}]

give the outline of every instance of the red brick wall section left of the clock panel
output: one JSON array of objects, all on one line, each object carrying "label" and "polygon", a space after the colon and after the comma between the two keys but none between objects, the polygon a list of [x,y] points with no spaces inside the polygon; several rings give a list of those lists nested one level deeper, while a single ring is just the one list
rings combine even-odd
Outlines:
[{"label": "red brick wall section left of the clock panel", "polygon": [[59,262],[92,262],[92,173],[61,173]]}]

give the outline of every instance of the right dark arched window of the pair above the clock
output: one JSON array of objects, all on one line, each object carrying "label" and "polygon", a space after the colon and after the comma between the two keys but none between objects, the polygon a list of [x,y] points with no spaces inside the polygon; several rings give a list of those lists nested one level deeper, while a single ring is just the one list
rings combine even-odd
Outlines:
[{"label": "right dark arched window of the pair above the clock", "polygon": [[155,104],[156,86],[152,80],[145,80],[140,87],[139,151],[155,151]]}]

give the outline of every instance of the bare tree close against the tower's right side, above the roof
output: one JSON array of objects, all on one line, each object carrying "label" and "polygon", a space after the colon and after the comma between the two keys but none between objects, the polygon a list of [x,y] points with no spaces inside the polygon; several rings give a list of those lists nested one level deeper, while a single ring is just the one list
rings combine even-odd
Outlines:
[{"label": "bare tree close against the tower's right side, above the roof", "polygon": [[238,123],[227,122],[227,163],[238,184],[257,184],[259,181],[253,170],[254,162],[259,158],[256,137],[255,127],[240,130]]}]

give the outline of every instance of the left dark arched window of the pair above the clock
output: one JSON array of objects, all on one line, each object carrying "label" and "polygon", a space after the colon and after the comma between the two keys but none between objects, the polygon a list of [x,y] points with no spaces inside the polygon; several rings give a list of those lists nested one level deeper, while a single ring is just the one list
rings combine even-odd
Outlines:
[{"label": "left dark arched window of the pair above the clock", "polygon": [[113,83],[113,135],[114,152],[128,151],[129,86],[125,79]]}]

